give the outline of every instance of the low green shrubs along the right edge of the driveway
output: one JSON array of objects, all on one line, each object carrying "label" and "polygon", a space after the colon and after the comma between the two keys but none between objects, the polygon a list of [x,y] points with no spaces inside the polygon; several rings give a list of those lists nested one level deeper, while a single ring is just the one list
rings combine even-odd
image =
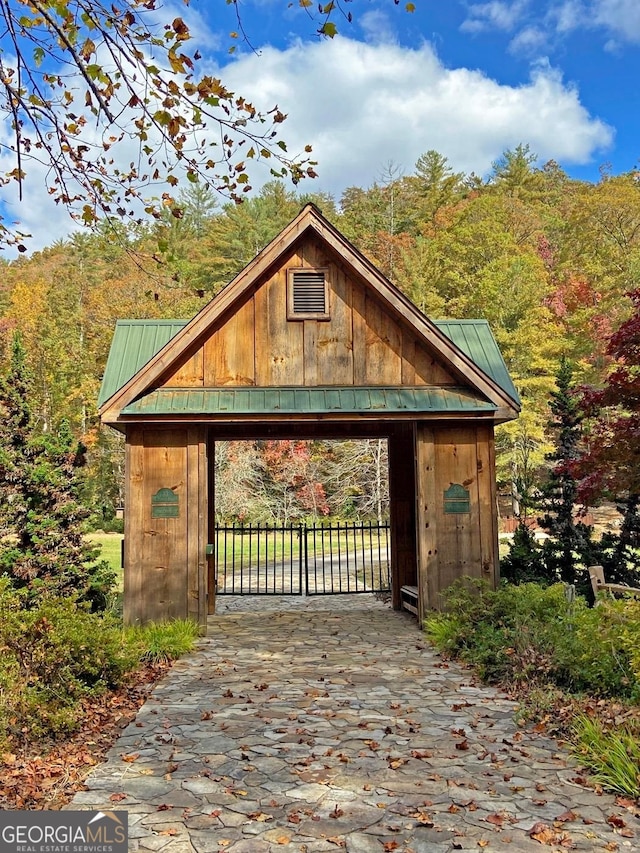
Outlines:
[{"label": "low green shrubs along the right edge of the driveway", "polygon": [[640,690],[640,603],[589,608],[563,584],[506,585],[469,579],[445,593],[446,612],[425,623],[429,639],[491,682],[555,684],[595,696]]}]

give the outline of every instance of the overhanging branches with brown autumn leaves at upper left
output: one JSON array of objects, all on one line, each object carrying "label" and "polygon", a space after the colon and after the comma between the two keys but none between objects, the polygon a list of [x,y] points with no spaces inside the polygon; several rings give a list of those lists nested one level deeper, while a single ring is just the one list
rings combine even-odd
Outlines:
[{"label": "overhanging branches with brown autumn leaves at upper left", "polygon": [[[188,25],[162,21],[156,0],[0,0],[0,25],[10,129],[0,155],[13,160],[0,186],[17,184],[20,198],[44,175],[49,196],[92,226],[179,217],[167,190],[184,181],[240,201],[251,189],[245,158],[269,160],[273,175],[294,183],[315,176],[308,152],[287,152],[284,113],[261,112],[200,74]],[[0,219],[0,245],[24,249],[24,236]]]}]

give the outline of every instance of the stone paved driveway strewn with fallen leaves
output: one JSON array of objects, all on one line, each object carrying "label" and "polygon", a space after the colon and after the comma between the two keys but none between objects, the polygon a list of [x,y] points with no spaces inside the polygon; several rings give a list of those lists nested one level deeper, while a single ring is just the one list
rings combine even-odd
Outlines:
[{"label": "stone paved driveway strewn with fallen leaves", "polygon": [[126,809],[131,850],[640,849],[630,810],[407,614],[369,595],[220,611],[69,806]]}]

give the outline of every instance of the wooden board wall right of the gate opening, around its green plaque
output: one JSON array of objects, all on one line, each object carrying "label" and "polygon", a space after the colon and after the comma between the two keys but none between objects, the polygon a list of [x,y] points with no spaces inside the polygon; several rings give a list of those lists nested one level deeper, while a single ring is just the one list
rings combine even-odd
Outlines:
[{"label": "wooden board wall right of the gate opening, around its green plaque", "polygon": [[[495,473],[491,427],[418,427],[418,552],[421,618],[438,609],[457,578],[497,580]],[[470,511],[446,513],[444,492],[469,492]]]}]

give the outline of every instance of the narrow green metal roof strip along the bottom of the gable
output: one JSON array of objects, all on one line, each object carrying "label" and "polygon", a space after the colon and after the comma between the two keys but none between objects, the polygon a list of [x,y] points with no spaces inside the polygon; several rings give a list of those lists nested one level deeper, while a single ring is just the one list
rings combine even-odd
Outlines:
[{"label": "narrow green metal roof strip along the bottom of the gable", "polygon": [[122,410],[123,415],[304,415],[491,413],[495,406],[468,388],[353,386],[317,388],[160,388]]}]

